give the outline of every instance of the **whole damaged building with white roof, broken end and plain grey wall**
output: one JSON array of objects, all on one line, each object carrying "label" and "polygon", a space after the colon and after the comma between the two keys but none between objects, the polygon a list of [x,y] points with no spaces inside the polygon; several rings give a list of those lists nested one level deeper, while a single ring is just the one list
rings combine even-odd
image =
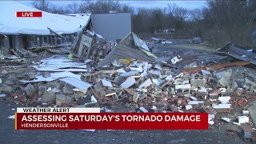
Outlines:
[{"label": "whole damaged building with white roof, broken end and plain grey wall", "polygon": [[[81,58],[82,53],[85,53],[81,50],[85,46],[90,48],[90,46],[98,46],[95,45],[95,42],[101,42],[102,46],[99,46],[98,49],[90,49],[88,55],[81,59],[98,56],[100,56],[98,58],[103,58],[114,42],[120,41],[131,32],[130,13],[62,15],[42,11],[42,18],[14,17],[17,11],[24,10],[40,11],[18,2],[2,2],[1,12],[5,14],[3,15],[5,21],[0,21],[2,57],[11,58],[11,54],[26,56],[30,54],[28,49],[72,46],[75,43],[73,54],[75,57]],[[117,27],[120,30],[116,30]],[[88,32],[85,32],[86,30]],[[83,34],[82,31],[84,31]],[[82,42],[80,42],[81,40]]]}]

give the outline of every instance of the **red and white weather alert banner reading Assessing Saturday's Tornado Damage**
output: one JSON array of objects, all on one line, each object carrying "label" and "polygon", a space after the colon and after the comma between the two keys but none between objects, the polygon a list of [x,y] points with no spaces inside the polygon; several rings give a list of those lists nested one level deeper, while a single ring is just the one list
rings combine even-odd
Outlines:
[{"label": "red and white weather alert banner reading Assessing Saturday's Tornado Damage", "polygon": [[208,130],[208,114],[100,113],[100,108],[18,108],[15,130]]}]

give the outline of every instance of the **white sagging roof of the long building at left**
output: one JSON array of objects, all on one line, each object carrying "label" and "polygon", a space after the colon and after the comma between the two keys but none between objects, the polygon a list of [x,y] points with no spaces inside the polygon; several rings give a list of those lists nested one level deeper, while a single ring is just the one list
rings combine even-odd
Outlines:
[{"label": "white sagging roof of the long building at left", "polygon": [[[2,1],[0,5],[0,34],[48,35],[72,34],[82,30],[90,22],[90,14],[83,17],[51,14],[42,11],[42,18],[16,18],[17,11],[42,11],[14,1]],[[50,28],[50,30],[48,29]]]}]

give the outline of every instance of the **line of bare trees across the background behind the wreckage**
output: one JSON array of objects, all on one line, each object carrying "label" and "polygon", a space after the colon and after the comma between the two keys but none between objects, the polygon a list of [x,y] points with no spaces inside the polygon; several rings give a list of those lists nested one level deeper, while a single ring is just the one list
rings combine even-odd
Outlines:
[{"label": "line of bare trees across the background behind the wreckage", "polygon": [[212,46],[222,47],[228,42],[253,46],[252,33],[256,30],[255,3],[255,0],[207,0],[207,6],[194,10],[187,10],[171,2],[162,9],[135,9],[128,3],[112,0],[84,0],[72,2],[65,7],[37,0],[32,2],[32,6],[54,14],[102,14],[110,11],[130,13],[135,33],[155,36],[157,30],[174,29],[170,38],[198,36]]}]

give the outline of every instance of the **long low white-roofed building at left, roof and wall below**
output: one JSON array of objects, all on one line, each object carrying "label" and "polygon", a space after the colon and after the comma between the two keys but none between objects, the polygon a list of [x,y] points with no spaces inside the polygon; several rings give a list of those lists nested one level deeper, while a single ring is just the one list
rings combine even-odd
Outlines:
[{"label": "long low white-roofed building at left, roof and wall below", "polygon": [[0,52],[10,49],[57,46],[73,43],[78,31],[91,29],[90,14],[72,17],[42,11],[41,18],[17,18],[17,11],[42,11],[14,1],[2,1],[0,5]]}]

